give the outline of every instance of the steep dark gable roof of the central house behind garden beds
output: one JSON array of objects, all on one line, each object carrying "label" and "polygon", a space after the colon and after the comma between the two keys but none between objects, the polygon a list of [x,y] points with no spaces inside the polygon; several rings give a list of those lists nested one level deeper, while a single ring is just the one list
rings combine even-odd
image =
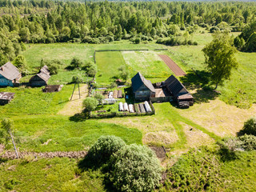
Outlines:
[{"label": "steep dark gable roof of the central house behind garden beds", "polygon": [[154,86],[150,82],[150,80],[146,80],[146,78],[143,77],[143,75],[138,72],[138,74],[135,74],[135,76],[131,79],[132,86],[134,89],[134,92],[136,92],[143,84],[149,88],[152,92],[155,92]]}]

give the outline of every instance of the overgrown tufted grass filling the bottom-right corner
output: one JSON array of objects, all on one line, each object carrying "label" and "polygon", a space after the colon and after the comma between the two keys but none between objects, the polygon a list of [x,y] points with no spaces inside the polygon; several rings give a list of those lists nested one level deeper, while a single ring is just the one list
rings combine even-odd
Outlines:
[{"label": "overgrown tufted grass filling the bottom-right corner", "polygon": [[236,155],[223,162],[218,150],[190,150],[167,170],[166,182],[159,191],[254,191],[256,151]]}]

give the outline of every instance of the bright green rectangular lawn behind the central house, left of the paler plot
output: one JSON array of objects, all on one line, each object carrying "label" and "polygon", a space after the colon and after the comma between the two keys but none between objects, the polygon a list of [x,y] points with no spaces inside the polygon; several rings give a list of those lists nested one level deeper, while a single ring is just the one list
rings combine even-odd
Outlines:
[{"label": "bright green rectangular lawn behind the central house, left of the paler plot", "polygon": [[118,78],[118,68],[126,66],[119,51],[96,52],[96,64],[98,66],[96,82],[99,83],[114,82]]}]

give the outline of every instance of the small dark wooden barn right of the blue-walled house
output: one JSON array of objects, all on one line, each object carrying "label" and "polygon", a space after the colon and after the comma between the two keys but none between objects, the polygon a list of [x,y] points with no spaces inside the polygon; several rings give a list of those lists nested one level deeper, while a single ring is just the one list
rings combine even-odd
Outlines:
[{"label": "small dark wooden barn right of the blue-walled house", "polygon": [[50,71],[47,66],[43,66],[39,73],[30,78],[30,86],[47,86],[50,78]]}]

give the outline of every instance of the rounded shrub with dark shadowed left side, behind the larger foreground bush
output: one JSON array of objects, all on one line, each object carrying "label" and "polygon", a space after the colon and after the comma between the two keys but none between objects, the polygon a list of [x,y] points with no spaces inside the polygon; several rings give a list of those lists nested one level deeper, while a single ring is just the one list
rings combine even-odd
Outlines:
[{"label": "rounded shrub with dark shadowed left side, behind the larger foreground bush", "polygon": [[113,135],[102,136],[90,147],[87,158],[94,164],[104,164],[110,160],[110,156],[125,146],[122,138]]}]

